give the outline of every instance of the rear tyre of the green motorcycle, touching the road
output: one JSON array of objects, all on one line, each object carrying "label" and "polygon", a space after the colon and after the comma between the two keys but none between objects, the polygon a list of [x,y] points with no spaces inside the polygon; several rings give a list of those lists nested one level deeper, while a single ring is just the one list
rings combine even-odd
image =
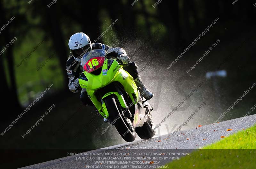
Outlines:
[{"label": "rear tyre of the green motorcycle, touching the road", "polygon": [[138,134],[138,136],[143,139],[143,140],[147,140],[149,138],[152,138],[155,136],[156,131],[154,130],[154,123],[152,121],[152,119],[150,119],[149,117],[147,117],[146,122],[143,124],[143,126],[141,127],[136,127],[135,131]]}]

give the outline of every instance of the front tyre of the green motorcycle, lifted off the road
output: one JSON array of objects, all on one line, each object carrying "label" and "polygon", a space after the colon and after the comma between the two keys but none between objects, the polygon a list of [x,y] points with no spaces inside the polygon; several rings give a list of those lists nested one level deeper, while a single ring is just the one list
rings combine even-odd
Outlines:
[{"label": "front tyre of the green motorcycle, lifted off the road", "polygon": [[136,134],[130,119],[126,118],[115,95],[104,98],[109,114],[109,123],[114,124],[118,133],[127,142],[135,140]]}]

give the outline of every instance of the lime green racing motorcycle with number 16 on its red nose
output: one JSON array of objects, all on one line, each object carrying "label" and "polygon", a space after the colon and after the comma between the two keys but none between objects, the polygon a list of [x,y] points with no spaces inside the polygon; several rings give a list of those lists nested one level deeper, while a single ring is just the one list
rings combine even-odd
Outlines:
[{"label": "lime green racing motorcycle with number 16 on its red nose", "polygon": [[120,61],[107,59],[106,54],[105,50],[95,49],[81,58],[81,88],[86,88],[100,115],[116,127],[125,141],[132,142],[135,132],[142,139],[152,138],[156,133],[153,107],[140,95],[140,88]]}]

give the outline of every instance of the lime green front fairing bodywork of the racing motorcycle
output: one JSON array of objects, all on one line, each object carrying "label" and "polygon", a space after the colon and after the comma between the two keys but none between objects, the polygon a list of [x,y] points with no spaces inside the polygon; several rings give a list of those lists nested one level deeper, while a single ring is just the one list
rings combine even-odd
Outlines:
[{"label": "lime green front fairing bodywork of the racing motorcycle", "polygon": [[103,98],[107,97],[108,95],[116,95],[121,106],[123,108],[128,108],[123,95],[120,95],[115,91],[115,89],[113,89],[113,92],[106,93],[101,98],[102,102],[99,102],[95,97],[95,92],[98,89],[103,88],[114,81],[118,81],[123,85],[124,90],[128,93],[133,104],[136,104],[139,101],[139,91],[135,82],[133,81],[132,76],[126,72],[115,59],[105,59],[99,75],[84,71],[79,77],[80,86],[82,88],[86,88],[88,97],[91,99],[92,103],[103,117],[108,117],[108,111],[103,101]]}]

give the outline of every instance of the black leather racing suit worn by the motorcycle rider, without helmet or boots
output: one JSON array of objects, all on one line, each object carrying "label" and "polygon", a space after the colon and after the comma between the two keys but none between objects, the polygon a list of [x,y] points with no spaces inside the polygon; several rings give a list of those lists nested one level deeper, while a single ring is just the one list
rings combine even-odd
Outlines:
[{"label": "black leather racing suit worn by the motorcycle rider, without helmet or boots", "polygon": [[[110,47],[108,45],[104,45],[101,43],[93,43],[93,49],[104,49],[107,51],[106,57],[109,58],[116,58],[117,56],[126,56],[126,52],[124,49],[120,47]],[[134,62],[130,62],[129,65],[124,66],[124,70],[127,71],[133,79],[138,77],[137,65]],[[66,70],[68,74],[68,88],[73,93],[78,93],[81,91],[80,99],[83,104],[93,105],[91,100],[89,99],[86,89],[82,89],[79,85],[75,84],[76,79],[79,78],[80,74],[83,72],[83,67],[80,64],[80,60],[74,58],[70,53],[68,60],[66,62]],[[77,87],[78,86],[78,87]]]}]

